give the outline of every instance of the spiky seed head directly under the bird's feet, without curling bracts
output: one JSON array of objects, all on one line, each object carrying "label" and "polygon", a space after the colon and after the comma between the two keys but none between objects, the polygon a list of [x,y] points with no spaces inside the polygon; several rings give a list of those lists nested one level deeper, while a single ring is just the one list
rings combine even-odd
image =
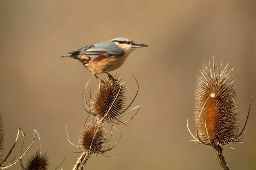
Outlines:
[{"label": "spiky seed head directly under the bird's feet, without curling bracts", "polygon": [[120,76],[103,80],[101,88],[96,89],[91,101],[92,115],[108,123],[115,123],[123,113],[127,87]]}]

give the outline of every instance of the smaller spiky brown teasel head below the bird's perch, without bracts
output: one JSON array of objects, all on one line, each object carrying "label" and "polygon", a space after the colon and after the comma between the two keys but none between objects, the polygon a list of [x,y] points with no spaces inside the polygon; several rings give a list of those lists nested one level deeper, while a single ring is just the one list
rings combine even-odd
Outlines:
[{"label": "smaller spiky brown teasel head below the bird's perch, without bracts", "polygon": [[86,124],[79,133],[78,146],[83,152],[89,154],[103,154],[107,142],[108,133],[106,128],[97,124],[96,121]]}]

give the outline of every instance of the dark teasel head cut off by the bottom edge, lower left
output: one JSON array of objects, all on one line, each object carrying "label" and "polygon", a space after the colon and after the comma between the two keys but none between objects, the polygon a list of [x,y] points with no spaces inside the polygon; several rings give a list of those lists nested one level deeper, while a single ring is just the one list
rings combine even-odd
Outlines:
[{"label": "dark teasel head cut off by the bottom edge, lower left", "polygon": [[26,170],[49,170],[49,159],[46,153],[41,155],[37,150],[27,161]]}]

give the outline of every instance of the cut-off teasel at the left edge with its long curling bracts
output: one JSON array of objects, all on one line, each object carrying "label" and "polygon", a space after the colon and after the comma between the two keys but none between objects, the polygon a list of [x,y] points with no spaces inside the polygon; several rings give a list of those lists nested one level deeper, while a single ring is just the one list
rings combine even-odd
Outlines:
[{"label": "cut-off teasel at the left edge with its long curling bracts", "polygon": [[36,140],[36,130],[34,130],[34,138],[33,141],[31,142],[30,146],[27,148],[27,150],[25,150],[25,152],[20,154],[20,157],[18,157],[18,159],[11,161],[11,163],[8,163],[7,165],[4,165],[4,163],[6,162],[7,158],[11,155],[11,152],[13,151],[13,148],[16,146],[16,143],[18,141],[19,138],[19,134],[22,134],[23,137],[25,137],[25,132],[23,132],[20,128],[18,129],[18,133],[17,133],[17,137],[16,140],[13,144],[13,146],[11,147],[11,149],[9,150],[7,156],[3,159],[3,149],[4,149],[4,125],[3,125],[3,121],[2,121],[2,115],[0,114],[0,161],[2,161],[0,163],[0,169],[7,169],[10,168],[11,166],[13,166],[15,163],[17,163],[18,161],[20,161],[22,159],[22,157],[29,151],[29,149],[31,148],[31,146],[34,144],[35,140]]}]

